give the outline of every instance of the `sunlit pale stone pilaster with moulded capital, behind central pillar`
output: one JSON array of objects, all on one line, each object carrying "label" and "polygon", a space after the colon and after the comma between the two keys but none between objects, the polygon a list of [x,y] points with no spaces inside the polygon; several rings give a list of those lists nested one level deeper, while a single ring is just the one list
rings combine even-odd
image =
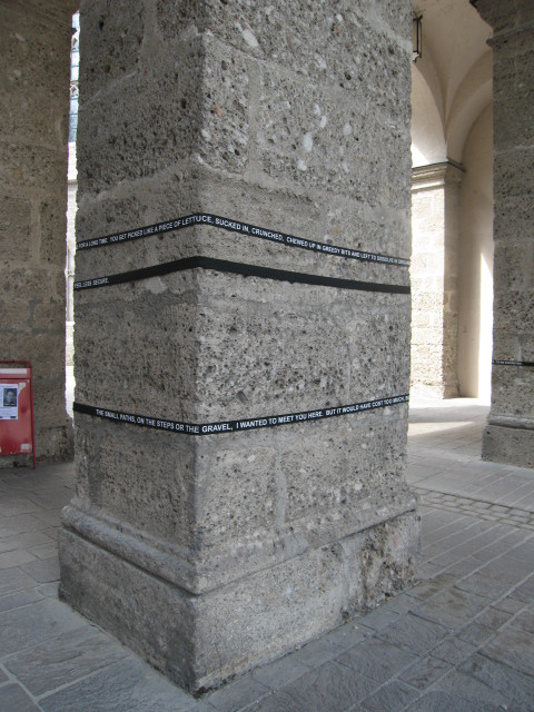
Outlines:
[{"label": "sunlit pale stone pilaster with moulded capital, behind central pillar", "polygon": [[421,396],[458,396],[458,244],[463,171],[446,161],[412,178],[412,384]]}]

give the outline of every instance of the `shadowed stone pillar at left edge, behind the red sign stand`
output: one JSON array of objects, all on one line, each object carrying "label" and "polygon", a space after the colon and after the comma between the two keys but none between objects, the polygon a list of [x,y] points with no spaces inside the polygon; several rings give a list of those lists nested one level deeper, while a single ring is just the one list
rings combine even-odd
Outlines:
[{"label": "shadowed stone pillar at left edge, behind the red sign stand", "polygon": [[72,457],[65,408],[70,4],[0,4],[0,358],[32,363],[39,459]]}]

